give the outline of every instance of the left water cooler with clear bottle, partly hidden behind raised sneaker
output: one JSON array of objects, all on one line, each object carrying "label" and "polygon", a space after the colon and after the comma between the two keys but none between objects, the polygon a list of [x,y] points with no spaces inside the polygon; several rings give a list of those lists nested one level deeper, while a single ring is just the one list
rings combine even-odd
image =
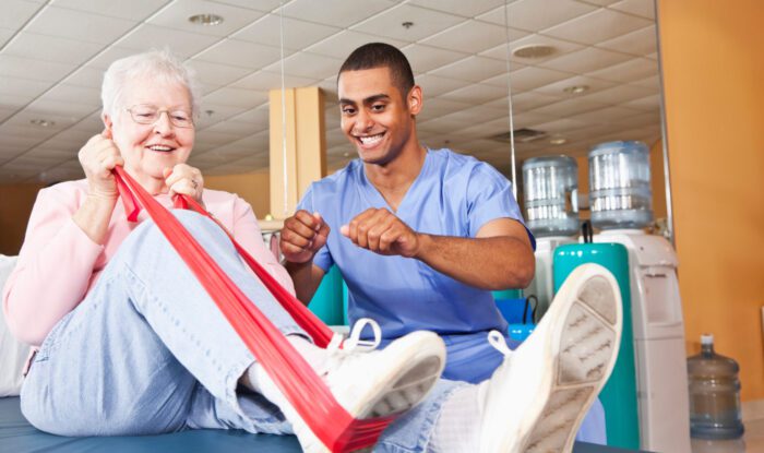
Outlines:
[{"label": "left water cooler with clear bottle, partly hidden behind raised sneaker", "polygon": [[536,237],[536,274],[523,290],[536,296],[536,319],[547,312],[553,297],[554,250],[576,242],[578,233],[578,165],[569,156],[535,157],[523,163],[525,220]]}]

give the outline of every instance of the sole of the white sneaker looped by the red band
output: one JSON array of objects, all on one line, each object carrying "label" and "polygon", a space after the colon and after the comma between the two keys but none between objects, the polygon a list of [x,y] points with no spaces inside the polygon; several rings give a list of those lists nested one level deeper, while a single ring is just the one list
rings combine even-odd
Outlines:
[{"label": "sole of the white sneaker looped by the red band", "polygon": [[[401,342],[405,338],[405,344]],[[431,332],[414,332],[390,345],[395,348],[402,366],[378,375],[377,385],[369,389],[368,398],[359,398],[349,413],[354,418],[386,417],[404,413],[434,386],[445,366],[445,346]]]}]

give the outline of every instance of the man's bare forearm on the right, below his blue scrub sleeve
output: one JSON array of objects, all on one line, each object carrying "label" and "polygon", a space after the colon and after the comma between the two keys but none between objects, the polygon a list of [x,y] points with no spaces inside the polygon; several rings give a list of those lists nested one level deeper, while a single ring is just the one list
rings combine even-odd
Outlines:
[{"label": "man's bare forearm on the right, below his blue scrub sleeve", "polygon": [[457,238],[420,234],[416,258],[482,289],[525,288],[535,273],[530,247],[513,237]]}]

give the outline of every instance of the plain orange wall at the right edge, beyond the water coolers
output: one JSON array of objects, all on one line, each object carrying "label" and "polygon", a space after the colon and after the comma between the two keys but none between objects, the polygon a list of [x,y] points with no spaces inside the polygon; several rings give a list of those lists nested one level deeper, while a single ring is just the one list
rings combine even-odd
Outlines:
[{"label": "plain orange wall at the right edge, beyond the water coolers", "polygon": [[679,283],[702,332],[764,397],[764,2],[659,1]]}]

